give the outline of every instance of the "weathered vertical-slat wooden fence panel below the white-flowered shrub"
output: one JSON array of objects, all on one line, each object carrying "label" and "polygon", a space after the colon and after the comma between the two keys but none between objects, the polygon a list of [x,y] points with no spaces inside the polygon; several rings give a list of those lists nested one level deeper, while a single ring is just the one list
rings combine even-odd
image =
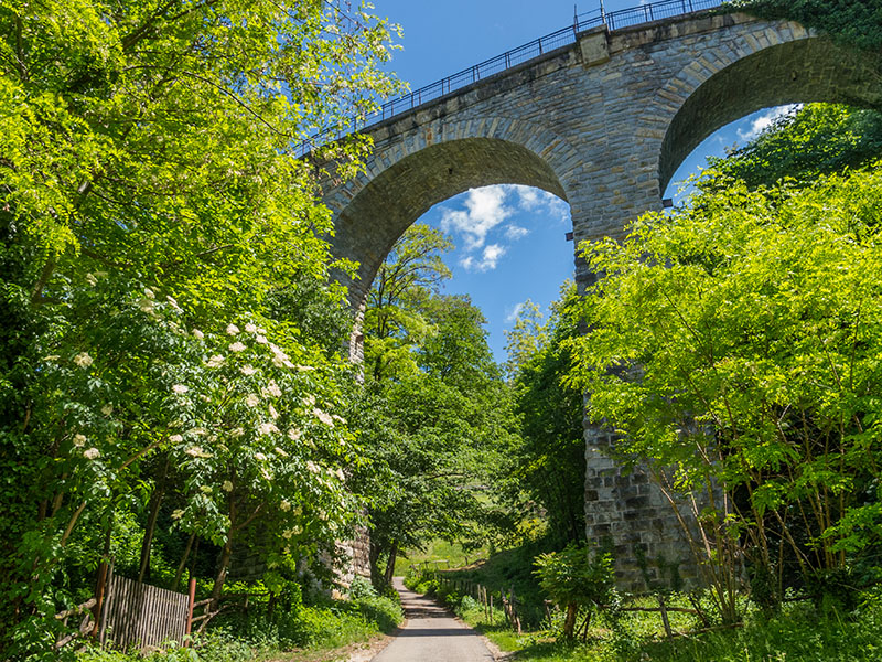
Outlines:
[{"label": "weathered vertical-slat wooden fence panel below the white-flowered shrub", "polygon": [[147,650],[163,641],[179,643],[190,633],[192,598],[114,575],[107,580],[104,618],[98,633],[101,645]]}]

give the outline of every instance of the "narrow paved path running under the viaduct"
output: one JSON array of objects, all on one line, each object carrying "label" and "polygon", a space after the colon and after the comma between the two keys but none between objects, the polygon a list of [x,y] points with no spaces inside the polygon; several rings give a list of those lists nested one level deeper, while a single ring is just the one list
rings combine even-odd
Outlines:
[{"label": "narrow paved path running under the viaduct", "polygon": [[372,662],[493,662],[481,637],[431,598],[392,579],[401,595],[407,624]]}]

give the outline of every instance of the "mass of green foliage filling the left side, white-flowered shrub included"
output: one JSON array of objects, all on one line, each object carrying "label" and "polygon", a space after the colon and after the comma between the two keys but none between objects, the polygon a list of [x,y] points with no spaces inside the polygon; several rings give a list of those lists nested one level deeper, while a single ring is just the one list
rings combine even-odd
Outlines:
[{"label": "mass of green foliage filling the left side, white-flowered shrub included", "polygon": [[[260,517],[292,531],[288,488],[315,535],[352,510],[345,369],[294,309],[343,299],[297,146],[396,88],[388,35],[342,3],[0,2],[3,653],[51,645],[72,542],[93,532],[83,575],[163,459],[176,526],[223,545]],[[366,147],[320,156],[345,177]]]}]

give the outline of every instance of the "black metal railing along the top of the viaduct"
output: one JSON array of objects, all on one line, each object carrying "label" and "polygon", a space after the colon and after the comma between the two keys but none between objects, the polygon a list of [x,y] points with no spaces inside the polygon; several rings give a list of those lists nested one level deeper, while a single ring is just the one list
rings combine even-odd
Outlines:
[{"label": "black metal railing along the top of the viaduct", "polygon": [[573,17],[572,25],[552,32],[551,34],[540,36],[528,44],[518,46],[517,49],[497,55],[491,60],[485,60],[452,76],[448,76],[431,85],[426,85],[409,94],[386,102],[376,111],[356,119],[353,126],[346,131],[336,131],[332,129],[321,131],[301,142],[298,146],[297,153],[303,156],[320,145],[342,138],[349,132],[370,127],[383,120],[395,117],[396,115],[411,110],[417,106],[421,106],[427,102],[441,98],[452,92],[467,87],[473,83],[477,83],[478,81],[488,78],[490,76],[518,66],[519,64],[529,62],[535,57],[539,57],[557,49],[574,44],[580,32],[598,28],[604,23],[607,30],[612,32],[642,23],[712,9],[722,3],[723,0],[662,0],[660,2],[641,4],[639,7],[621,9],[619,11],[604,13],[600,10],[595,10],[583,14],[577,14]]}]

